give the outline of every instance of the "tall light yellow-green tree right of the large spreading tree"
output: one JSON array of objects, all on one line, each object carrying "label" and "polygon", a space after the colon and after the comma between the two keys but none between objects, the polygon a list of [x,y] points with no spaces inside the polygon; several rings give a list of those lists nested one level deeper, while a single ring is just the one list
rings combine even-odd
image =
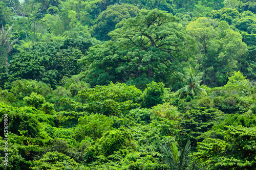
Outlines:
[{"label": "tall light yellow-green tree right of the large spreading tree", "polygon": [[187,29],[198,42],[197,59],[205,73],[203,84],[224,85],[227,72],[233,72],[237,58],[246,52],[241,34],[230,29],[224,20],[218,22],[206,17],[190,22]]}]

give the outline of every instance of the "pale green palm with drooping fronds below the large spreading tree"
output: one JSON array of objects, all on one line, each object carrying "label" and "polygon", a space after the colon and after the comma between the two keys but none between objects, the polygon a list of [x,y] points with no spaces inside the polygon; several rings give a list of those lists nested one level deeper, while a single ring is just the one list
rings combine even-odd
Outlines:
[{"label": "pale green palm with drooping fronds below the large spreading tree", "polygon": [[202,77],[204,75],[203,72],[196,72],[197,67],[185,68],[184,74],[179,72],[179,76],[183,78],[183,82],[186,84],[185,87],[179,89],[175,92],[175,95],[179,95],[179,99],[183,94],[192,94],[192,95],[207,95],[206,91],[200,87],[200,83],[202,81]]}]

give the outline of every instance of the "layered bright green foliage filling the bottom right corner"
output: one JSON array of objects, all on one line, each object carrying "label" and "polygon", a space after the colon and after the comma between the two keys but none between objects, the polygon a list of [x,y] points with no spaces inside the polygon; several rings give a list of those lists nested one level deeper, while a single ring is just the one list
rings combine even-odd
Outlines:
[{"label": "layered bright green foliage filling the bottom right corner", "polygon": [[207,138],[198,145],[196,159],[210,169],[254,169],[255,128],[227,126],[224,139]]}]

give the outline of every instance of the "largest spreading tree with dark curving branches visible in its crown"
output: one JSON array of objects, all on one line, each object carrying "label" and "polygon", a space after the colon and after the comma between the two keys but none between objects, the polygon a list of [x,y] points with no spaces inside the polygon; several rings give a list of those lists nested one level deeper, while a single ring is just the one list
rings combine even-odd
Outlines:
[{"label": "largest spreading tree with dark curving branches visible in its crown", "polygon": [[142,9],[118,26],[109,33],[113,41],[90,48],[88,56],[79,62],[88,63],[91,85],[126,82],[142,76],[151,79],[159,70],[171,74],[174,62],[187,60],[193,54],[193,39],[172,14]]}]

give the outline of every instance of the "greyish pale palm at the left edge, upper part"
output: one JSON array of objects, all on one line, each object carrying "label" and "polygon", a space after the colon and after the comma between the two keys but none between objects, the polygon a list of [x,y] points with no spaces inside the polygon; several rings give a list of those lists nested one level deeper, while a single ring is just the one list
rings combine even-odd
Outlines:
[{"label": "greyish pale palm at the left edge, upper part", "polygon": [[8,30],[5,30],[5,27],[2,26],[0,30],[0,66],[8,66],[7,54],[12,50],[12,45],[18,41],[18,38],[11,40],[13,25]]}]

